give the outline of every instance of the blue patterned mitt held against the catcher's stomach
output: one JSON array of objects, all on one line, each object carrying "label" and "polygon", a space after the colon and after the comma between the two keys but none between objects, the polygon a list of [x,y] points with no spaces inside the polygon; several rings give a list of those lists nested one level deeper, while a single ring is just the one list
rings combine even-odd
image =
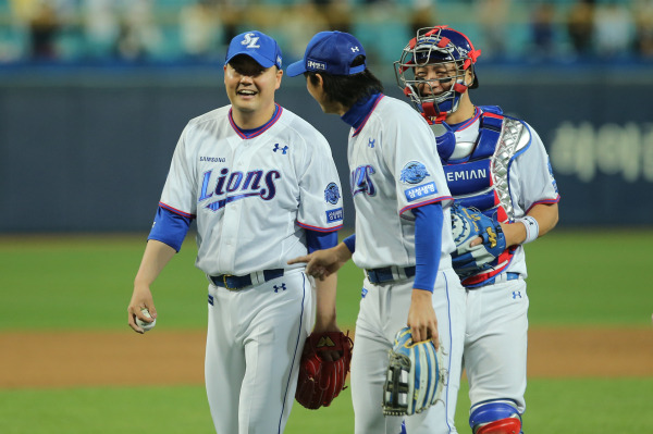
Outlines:
[{"label": "blue patterned mitt held against the catcher's stomach", "polygon": [[[463,278],[493,268],[492,262],[506,249],[501,224],[477,209],[452,206],[452,230],[456,243],[452,264]],[[483,243],[470,247],[476,237],[481,237]]]}]

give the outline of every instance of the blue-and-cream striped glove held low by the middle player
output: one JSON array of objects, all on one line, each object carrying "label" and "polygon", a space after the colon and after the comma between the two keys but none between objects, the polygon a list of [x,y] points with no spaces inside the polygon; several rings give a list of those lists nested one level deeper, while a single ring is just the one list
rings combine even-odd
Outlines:
[{"label": "blue-and-cream striped glove held low by the middle player", "polygon": [[436,351],[432,340],[414,343],[410,328],[399,330],[383,385],[383,414],[411,416],[428,409],[440,399],[445,377],[442,345]]}]

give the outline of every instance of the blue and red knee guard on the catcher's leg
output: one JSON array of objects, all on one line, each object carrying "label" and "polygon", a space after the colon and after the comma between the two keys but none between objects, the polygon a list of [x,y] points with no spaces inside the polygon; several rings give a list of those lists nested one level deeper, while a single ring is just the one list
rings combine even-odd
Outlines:
[{"label": "blue and red knee guard on the catcher's leg", "polygon": [[521,414],[510,400],[494,400],[471,408],[469,426],[473,434],[520,434]]}]

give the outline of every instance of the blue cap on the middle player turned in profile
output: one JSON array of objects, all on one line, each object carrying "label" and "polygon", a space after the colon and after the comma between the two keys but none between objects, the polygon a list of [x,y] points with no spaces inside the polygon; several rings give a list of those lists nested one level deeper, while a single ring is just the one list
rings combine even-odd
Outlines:
[{"label": "blue cap on the middle player turned in profile", "polygon": [[354,75],[365,71],[366,64],[350,66],[358,55],[366,55],[358,39],[343,32],[320,32],[312,37],[304,59],[292,63],[286,74],[295,77],[307,71],[325,72],[333,75]]}]

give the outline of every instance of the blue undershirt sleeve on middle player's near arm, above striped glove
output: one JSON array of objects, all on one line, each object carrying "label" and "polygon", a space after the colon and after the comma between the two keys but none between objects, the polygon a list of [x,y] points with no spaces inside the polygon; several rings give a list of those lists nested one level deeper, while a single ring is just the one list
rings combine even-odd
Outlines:
[{"label": "blue undershirt sleeve on middle player's near arm, above striped glove", "polygon": [[433,292],[442,251],[442,203],[429,203],[412,209],[415,214],[416,289]]}]

